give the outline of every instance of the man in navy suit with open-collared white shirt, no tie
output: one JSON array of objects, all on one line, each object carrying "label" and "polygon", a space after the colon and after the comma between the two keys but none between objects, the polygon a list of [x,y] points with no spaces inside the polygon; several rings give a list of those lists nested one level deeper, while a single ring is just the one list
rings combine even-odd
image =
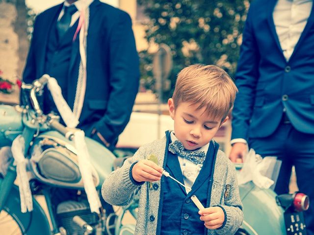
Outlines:
[{"label": "man in navy suit with open-collared white shirt, no tie", "polygon": [[[314,200],[313,0],[252,1],[235,80],[230,159],[248,147],[277,156],[275,191],[288,192],[294,165],[299,190]],[[314,235],[314,203],[305,217]]]}]

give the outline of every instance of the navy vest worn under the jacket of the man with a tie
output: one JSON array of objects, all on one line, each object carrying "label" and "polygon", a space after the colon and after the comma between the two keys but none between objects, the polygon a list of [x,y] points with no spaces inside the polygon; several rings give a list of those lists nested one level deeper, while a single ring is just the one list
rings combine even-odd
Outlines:
[{"label": "navy vest worn under the jacket of the man with a tie", "polygon": [[[57,80],[61,87],[63,97],[65,100],[68,100],[67,90],[70,59],[73,46],[77,46],[76,44],[74,45],[72,40],[78,26],[78,21],[68,29],[62,38],[58,38],[56,24],[57,20],[52,24],[48,37],[45,57],[45,73]],[[73,89],[76,89],[76,84],[73,84]],[[45,90],[44,108],[45,113],[57,111],[48,90]]]}]

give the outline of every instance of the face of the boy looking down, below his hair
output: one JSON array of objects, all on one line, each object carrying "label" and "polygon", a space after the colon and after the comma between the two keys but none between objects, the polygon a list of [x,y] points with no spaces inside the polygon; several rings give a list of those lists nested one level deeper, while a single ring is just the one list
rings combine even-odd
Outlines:
[{"label": "face of the boy looking down, below his hair", "polygon": [[212,118],[205,112],[206,107],[197,110],[198,105],[181,102],[175,109],[172,98],[168,100],[170,117],[174,120],[174,131],[178,140],[187,150],[203,147],[214,137],[228,117]]}]

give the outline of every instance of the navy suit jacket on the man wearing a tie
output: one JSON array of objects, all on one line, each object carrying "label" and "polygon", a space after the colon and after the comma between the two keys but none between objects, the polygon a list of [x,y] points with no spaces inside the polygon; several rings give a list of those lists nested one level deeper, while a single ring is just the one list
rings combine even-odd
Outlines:
[{"label": "navy suit jacket on the man wearing a tie", "polygon": [[[36,17],[23,79],[41,77],[49,32],[63,3]],[[89,6],[87,34],[87,85],[79,128],[86,135],[96,128],[110,144],[127,125],[139,84],[139,60],[130,16],[94,0]],[[67,102],[73,108],[80,62],[78,38],[73,43],[68,70]]]}]

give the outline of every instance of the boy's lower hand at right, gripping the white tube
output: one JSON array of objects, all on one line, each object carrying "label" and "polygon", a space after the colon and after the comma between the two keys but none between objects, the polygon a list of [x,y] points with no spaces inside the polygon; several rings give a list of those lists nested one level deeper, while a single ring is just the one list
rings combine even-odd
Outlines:
[{"label": "boy's lower hand at right, gripping the white tube", "polygon": [[208,229],[219,229],[225,221],[225,213],[220,207],[209,207],[198,212]]}]

